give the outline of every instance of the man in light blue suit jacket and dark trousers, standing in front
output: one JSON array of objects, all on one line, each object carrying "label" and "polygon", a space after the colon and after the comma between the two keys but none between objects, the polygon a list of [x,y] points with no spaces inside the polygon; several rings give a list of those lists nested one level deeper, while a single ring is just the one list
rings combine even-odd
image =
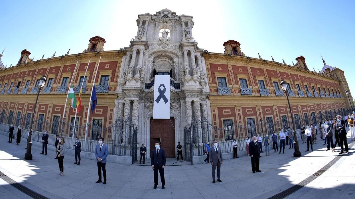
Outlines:
[{"label": "man in light blue suit jacket and dark trousers, standing in front", "polygon": [[104,173],[104,183],[106,184],[106,158],[108,154],[108,147],[104,144],[105,139],[100,138],[99,144],[95,147],[95,157],[97,159],[97,170],[99,173],[99,180],[96,183],[100,183],[101,181],[101,169]]}]

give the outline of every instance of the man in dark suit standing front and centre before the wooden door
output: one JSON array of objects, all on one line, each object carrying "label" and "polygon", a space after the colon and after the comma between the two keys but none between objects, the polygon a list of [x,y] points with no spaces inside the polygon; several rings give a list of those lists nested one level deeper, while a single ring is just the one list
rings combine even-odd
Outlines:
[{"label": "man in dark suit standing front and centre before the wooden door", "polygon": [[154,170],[154,189],[158,186],[158,171],[160,174],[160,181],[162,182],[162,189],[165,189],[165,151],[160,148],[160,142],[155,142],[155,149],[152,150],[151,164]]}]

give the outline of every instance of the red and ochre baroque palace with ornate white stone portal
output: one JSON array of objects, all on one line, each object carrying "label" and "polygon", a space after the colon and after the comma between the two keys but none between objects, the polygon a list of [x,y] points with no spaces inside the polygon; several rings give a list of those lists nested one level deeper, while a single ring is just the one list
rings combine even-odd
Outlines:
[{"label": "red and ochre baroque palace with ornate white stone portal", "polygon": [[[37,80],[45,75],[47,83],[40,94],[35,119],[56,123],[64,117],[73,123],[75,110],[70,102],[64,107],[73,76],[76,93],[82,82],[86,85],[81,98],[84,111],[77,115],[77,124],[85,124],[97,67],[98,104],[89,121],[95,120],[106,128],[118,118],[131,120],[138,127],[137,144],[146,143],[150,148],[155,141],[162,141],[168,157],[175,156],[178,142],[184,144],[184,129],[192,121],[206,120],[212,127],[223,129],[230,122],[250,126],[260,119],[289,120],[287,101],[279,86],[281,79],[289,83],[293,114],[320,116],[327,114],[324,111],[350,107],[344,71],[325,62],[322,72],[317,73],[308,70],[303,56],[297,57],[293,66],[252,58],[245,56],[234,40],[223,44],[224,54],[208,52],[194,40],[192,17],[179,16],[168,9],[138,15],[136,23],[136,36],[120,50],[105,51],[106,41],[98,36],[91,38],[88,48],[79,54],[70,55],[68,51],[60,57],[31,60],[31,53],[23,50],[16,66],[0,70],[1,122],[6,122],[5,116],[11,114],[14,118],[24,114],[31,117]],[[170,120],[152,118],[155,74],[170,76]],[[64,109],[67,111],[63,116]],[[15,119],[12,121],[16,123]],[[60,129],[49,129],[49,133],[60,133]],[[207,139],[203,133],[197,131],[193,136],[206,141],[202,140]],[[238,137],[244,132],[234,133]],[[100,134],[113,139],[110,131]],[[218,131],[211,131],[209,136],[225,139]]]}]

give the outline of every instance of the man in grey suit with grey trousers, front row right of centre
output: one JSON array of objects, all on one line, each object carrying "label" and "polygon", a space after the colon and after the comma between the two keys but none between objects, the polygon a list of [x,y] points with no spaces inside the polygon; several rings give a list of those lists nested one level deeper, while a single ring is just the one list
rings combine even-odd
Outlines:
[{"label": "man in grey suit with grey trousers, front row right of centre", "polygon": [[223,163],[223,157],[222,157],[222,151],[221,148],[218,147],[218,141],[214,140],[213,141],[213,147],[209,148],[209,161],[211,162],[212,165],[212,183],[215,183],[214,179],[216,176],[216,167],[217,167],[217,181],[222,182],[220,180],[220,175],[221,175],[221,164]]}]

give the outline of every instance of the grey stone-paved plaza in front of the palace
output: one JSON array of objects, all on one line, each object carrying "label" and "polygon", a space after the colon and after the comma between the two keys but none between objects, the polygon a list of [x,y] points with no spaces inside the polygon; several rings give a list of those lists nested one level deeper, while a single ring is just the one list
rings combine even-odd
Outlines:
[{"label": "grey stone-paved plaza in front of the palace", "polygon": [[[347,128],[348,129],[348,128]],[[349,130],[349,129],[348,129]],[[351,144],[350,133],[348,142]],[[307,144],[300,143],[302,157],[293,158],[293,149],[286,146],[285,154],[263,153],[260,170],[251,171],[250,157],[223,161],[221,183],[212,183],[211,165],[177,165],[165,168],[165,190],[153,189],[153,170],[149,164],[122,165],[107,163],[107,184],[96,184],[97,166],[94,160],[65,155],[64,176],[59,176],[55,152],[40,155],[42,148],[32,146],[33,160],[24,160],[26,143],[7,143],[0,135],[0,171],[23,186],[48,198],[269,198],[303,181],[338,156],[338,151],[325,151],[318,139],[313,152],[305,152]],[[271,146],[272,147],[272,146]],[[355,172],[353,153],[344,154],[333,166],[305,187],[287,198],[354,198]],[[173,160],[169,160],[173,161]],[[159,178],[160,179],[160,178]],[[31,198],[0,178],[1,198]]]}]

